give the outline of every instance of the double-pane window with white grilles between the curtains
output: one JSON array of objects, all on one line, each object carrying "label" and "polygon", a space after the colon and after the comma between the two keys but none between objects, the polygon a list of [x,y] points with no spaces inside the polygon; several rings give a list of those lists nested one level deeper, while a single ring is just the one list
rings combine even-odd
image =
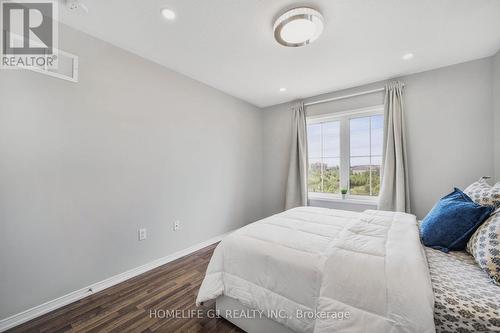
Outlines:
[{"label": "double-pane window with white grilles between the curtains", "polygon": [[310,117],[307,122],[310,196],[335,198],[346,188],[350,197],[378,197],[383,109]]}]

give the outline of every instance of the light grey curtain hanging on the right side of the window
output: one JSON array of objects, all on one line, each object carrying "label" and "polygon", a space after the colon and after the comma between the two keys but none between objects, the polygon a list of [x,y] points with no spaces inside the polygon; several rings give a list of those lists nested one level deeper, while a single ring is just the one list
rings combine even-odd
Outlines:
[{"label": "light grey curtain hanging on the right side of the window", "polygon": [[385,87],[384,152],[379,209],[410,212],[403,83]]}]

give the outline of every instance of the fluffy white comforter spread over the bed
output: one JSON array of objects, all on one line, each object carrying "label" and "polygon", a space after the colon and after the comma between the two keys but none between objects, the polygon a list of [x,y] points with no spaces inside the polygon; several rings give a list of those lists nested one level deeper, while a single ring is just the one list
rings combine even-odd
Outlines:
[{"label": "fluffy white comforter spread over the bed", "polygon": [[404,213],[300,207],[249,224],[217,246],[196,301],[222,294],[297,332],[434,332],[425,254]]}]

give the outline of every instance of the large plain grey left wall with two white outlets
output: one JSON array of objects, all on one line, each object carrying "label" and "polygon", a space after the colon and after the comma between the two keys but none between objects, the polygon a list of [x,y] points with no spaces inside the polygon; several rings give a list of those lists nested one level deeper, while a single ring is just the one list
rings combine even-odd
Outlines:
[{"label": "large plain grey left wall with two white outlets", "polygon": [[78,84],[0,73],[0,318],[262,217],[259,109],[60,37]]}]

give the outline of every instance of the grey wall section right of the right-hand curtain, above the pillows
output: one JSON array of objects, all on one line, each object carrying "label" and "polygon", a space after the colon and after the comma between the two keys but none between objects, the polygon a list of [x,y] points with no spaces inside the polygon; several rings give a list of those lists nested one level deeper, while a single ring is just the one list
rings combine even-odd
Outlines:
[{"label": "grey wall section right of the right-hand curtain, above the pillows", "polygon": [[491,58],[402,79],[411,204],[424,217],[453,186],[493,176]]}]

